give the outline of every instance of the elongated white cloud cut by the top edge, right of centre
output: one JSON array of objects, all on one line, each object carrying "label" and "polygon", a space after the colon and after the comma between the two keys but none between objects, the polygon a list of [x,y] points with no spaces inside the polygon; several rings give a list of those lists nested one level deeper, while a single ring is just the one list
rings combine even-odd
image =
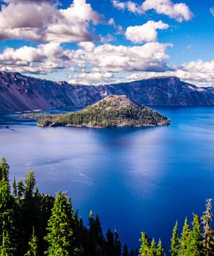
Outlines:
[{"label": "elongated white cloud cut by the top edge, right of centre", "polygon": [[119,10],[129,10],[131,13],[142,15],[147,10],[155,10],[158,14],[164,14],[178,22],[190,20],[192,12],[185,3],[173,3],[171,0],[145,0],[142,5],[138,5],[132,1],[121,2],[112,1],[114,8]]}]

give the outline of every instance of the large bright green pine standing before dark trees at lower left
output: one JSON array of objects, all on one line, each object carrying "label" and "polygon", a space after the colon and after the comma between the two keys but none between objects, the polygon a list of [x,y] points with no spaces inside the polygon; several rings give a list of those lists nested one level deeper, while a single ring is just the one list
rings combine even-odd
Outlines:
[{"label": "large bright green pine standing before dark trees at lower left", "polygon": [[48,243],[48,256],[77,255],[72,230],[74,220],[66,193],[59,191],[56,194],[52,216],[48,220],[47,236],[45,236],[45,241]]}]

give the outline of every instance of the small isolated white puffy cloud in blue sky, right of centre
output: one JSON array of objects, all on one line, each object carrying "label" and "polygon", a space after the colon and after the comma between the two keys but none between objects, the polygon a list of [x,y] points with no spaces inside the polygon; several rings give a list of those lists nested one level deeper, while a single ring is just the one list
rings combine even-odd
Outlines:
[{"label": "small isolated white puffy cloud in blue sky, right of centre", "polygon": [[125,37],[133,43],[153,42],[158,38],[157,29],[168,29],[169,25],[161,20],[154,22],[149,20],[142,26],[128,27],[125,31]]}]

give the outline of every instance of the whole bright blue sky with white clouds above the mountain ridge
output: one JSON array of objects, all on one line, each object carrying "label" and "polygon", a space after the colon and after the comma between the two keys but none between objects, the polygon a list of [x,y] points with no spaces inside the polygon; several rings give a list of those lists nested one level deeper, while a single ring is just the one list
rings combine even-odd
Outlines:
[{"label": "whole bright blue sky with white clouds above the mountain ridge", "polygon": [[214,84],[212,0],[0,0],[0,71],[71,84]]}]

